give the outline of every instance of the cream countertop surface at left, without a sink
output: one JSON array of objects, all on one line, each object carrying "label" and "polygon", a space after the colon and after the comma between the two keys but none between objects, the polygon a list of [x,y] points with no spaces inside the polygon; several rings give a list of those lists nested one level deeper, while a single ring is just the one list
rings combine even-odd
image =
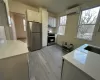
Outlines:
[{"label": "cream countertop surface at left, without a sink", "polygon": [[0,42],[0,59],[28,53],[27,44],[19,40]]}]

